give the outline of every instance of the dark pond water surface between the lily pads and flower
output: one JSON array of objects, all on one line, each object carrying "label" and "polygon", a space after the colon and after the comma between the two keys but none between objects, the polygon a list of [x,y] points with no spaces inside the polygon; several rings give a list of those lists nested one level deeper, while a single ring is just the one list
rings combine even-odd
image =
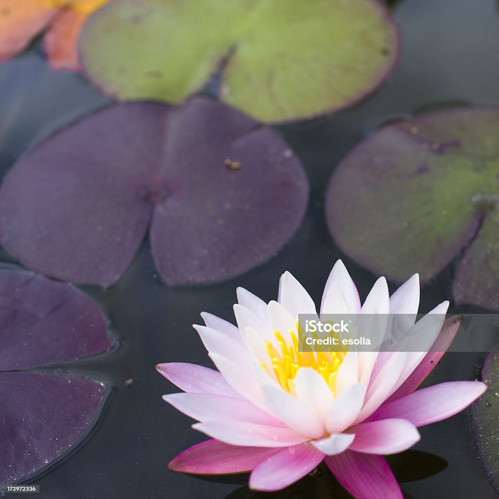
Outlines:
[{"label": "dark pond water surface between the lily pads and flower", "polygon": [[[160,376],[159,362],[210,365],[191,327],[201,311],[233,320],[236,287],[264,300],[275,299],[277,283],[290,270],[320,300],[328,272],[343,258],[361,298],[376,276],[337,250],[326,230],[323,193],[336,163],[383,122],[423,109],[453,103],[499,104],[499,4],[496,0],[402,0],[395,7],[401,27],[400,63],[375,95],[354,108],[312,122],[280,127],[300,156],[311,182],[310,206],[298,233],[277,256],[251,272],[223,284],[169,288],[157,275],[149,243],[144,242],[123,278],[108,290],[84,286],[103,307],[120,338],[120,348],[64,366],[64,372],[91,373],[113,387],[103,416],[88,439],[68,459],[30,483],[47,499],[203,498],[246,499],[343,498],[329,472],[307,477],[286,491],[257,494],[243,481],[200,480],[174,474],[168,462],[206,437],[192,421],[162,401],[176,389]],[[312,76],[312,75],[311,75]],[[52,73],[37,48],[0,65],[0,172],[3,175],[33,141],[75,117],[101,107],[108,99],[74,74]],[[424,244],[424,241],[421,242]],[[2,261],[12,261],[0,252]],[[451,298],[453,266],[423,289],[422,311]],[[395,286],[391,285],[391,290]],[[450,312],[481,311],[456,307]],[[485,356],[449,354],[429,383],[475,379]],[[129,387],[128,379],[133,380]],[[391,459],[408,498],[497,497],[478,460],[470,411],[421,429],[409,452]],[[4,443],[1,443],[4,445]],[[445,462],[443,461],[445,460]],[[236,482],[236,483],[234,483]],[[19,499],[31,497],[16,495]]]}]

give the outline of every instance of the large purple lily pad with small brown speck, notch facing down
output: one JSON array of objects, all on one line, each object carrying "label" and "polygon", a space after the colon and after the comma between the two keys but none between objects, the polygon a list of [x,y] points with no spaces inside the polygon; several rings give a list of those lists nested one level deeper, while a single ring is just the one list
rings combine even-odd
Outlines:
[{"label": "large purple lily pad with small brown speck, notch facing down", "polygon": [[109,286],[149,224],[171,285],[233,277],[298,228],[308,182],[273,131],[214,101],[120,104],[25,154],[0,190],[0,241],[24,265]]}]

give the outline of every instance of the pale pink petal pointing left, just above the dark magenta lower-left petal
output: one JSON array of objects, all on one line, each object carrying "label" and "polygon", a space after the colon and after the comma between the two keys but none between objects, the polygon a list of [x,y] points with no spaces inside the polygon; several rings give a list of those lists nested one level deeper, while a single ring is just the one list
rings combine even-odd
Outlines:
[{"label": "pale pink petal pointing left, just above the dark magenta lower-left petal", "polygon": [[192,427],[209,437],[231,445],[289,447],[308,440],[291,428],[257,425],[244,421],[214,420],[196,423]]}]

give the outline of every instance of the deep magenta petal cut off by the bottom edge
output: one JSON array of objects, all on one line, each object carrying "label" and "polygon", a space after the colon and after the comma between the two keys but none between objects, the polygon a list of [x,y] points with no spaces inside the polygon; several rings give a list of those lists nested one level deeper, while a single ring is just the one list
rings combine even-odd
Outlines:
[{"label": "deep magenta petal cut off by the bottom edge", "polygon": [[345,451],[327,456],[324,461],[356,499],[403,499],[390,467],[381,456]]}]

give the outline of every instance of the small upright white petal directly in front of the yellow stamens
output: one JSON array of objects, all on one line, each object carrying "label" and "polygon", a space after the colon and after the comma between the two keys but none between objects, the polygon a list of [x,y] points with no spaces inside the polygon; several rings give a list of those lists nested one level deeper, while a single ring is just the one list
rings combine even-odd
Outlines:
[{"label": "small upright white petal directly in front of the yellow stamens", "polygon": [[333,394],[324,378],[311,367],[301,367],[294,377],[296,398],[320,419],[325,427]]}]

